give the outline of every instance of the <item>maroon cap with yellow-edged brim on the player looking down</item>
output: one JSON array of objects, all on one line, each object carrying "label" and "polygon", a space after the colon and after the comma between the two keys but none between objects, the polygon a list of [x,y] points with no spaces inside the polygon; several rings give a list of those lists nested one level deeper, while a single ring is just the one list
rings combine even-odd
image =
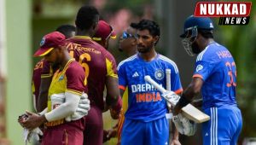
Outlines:
[{"label": "maroon cap with yellow-edged brim on the player looking down", "polygon": [[61,34],[61,32],[50,32],[42,38],[40,43],[40,48],[34,54],[37,56],[47,55],[52,49],[58,47],[59,45],[65,45],[66,37]]}]

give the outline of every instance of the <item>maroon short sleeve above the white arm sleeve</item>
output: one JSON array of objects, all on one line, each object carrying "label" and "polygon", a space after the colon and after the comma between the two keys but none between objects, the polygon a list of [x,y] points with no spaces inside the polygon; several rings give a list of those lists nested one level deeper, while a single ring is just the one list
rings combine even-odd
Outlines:
[{"label": "maroon short sleeve above the white arm sleeve", "polygon": [[82,95],[83,91],[87,92],[86,87],[84,86],[85,77],[84,77],[84,69],[79,66],[79,63],[74,61],[73,64],[67,68],[66,71],[67,77],[67,90],[68,92]]}]

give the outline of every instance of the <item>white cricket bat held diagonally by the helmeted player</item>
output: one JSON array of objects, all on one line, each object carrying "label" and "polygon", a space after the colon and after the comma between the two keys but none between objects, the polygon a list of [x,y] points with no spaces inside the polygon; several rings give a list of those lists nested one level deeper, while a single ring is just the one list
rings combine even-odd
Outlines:
[{"label": "white cricket bat held diagonally by the helmeted player", "polygon": [[[157,84],[152,78],[150,78],[150,76],[145,76],[144,79],[149,84],[152,84],[154,88],[159,90],[162,94],[174,93],[173,91],[166,90],[160,84]],[[164,97],[167,102],[170,102],[170,100],[165,95],[162,95],[162,97]],[[175,106],[173,102],[170,102],[170,103],[173,106]],[[208,116],[205,113],[202,113],[199,109],[197,109],[190,103],[187,106],[182,108],[182,113],[186,118],[193,120],[195,123],[203,123],[210,119],[210,116]]]}]

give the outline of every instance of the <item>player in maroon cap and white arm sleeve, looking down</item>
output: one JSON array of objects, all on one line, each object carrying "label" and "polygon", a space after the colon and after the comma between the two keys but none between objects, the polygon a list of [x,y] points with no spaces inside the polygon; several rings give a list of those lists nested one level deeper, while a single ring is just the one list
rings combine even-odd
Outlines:
[{"label": "player in maroon cap and white arm sleeve, looking down", "polygon": [[[55,63],[59,69],[55,72],[49,86],[47,113],[26,112],[27,119],[19,119],[20,125],[28,130],[33,130],[39,125],[45,125],[43,145],[49,144],[83,144],[84,118],[72,119],[66,122],[65,118],[76,112],[80,97],[87,92],[84,69],[75,61],[66,49],[65,36],[60,32],[51,32],[45,35],[41,47],[34,56],[44,56],[46,61]],[[55,106],[53,97],[64,94],[65,102]]]}]

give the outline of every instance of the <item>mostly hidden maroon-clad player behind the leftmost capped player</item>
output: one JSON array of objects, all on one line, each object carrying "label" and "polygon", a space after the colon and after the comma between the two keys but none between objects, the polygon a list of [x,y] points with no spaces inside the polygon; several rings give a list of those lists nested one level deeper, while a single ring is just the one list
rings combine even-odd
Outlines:
[{"label": "mostly hidden maroon-clad player behind the leftmost capped player", "polygon": [[[75,26],[68,25],[68,24],[61,25],[61,26],[58,26],[55,31],[61,32],[66,38],[71,38],[75,34]],[[43,67],[44,67],[44,70],[43,70]],[[44,109],[44,107],[41,107],[40,104],[38,105],[38,98],[44,99],[45,100],[44,102],[47,102],[49,84],[51,82],[52,75],[53,73],[55,73],[55,70],[57,68],[58,67],[51,66],[47,61],[42,59],[38,61],[38,63],[33,69],[33,74],[32,74],[33,106],[34,106],[34,109],[38,112],[41,112]],[[43,82],[44,85],[40,85],[41,81]],[[44,83],[44,82],[48,82],[48,83]],[[40,94],[40,97],[38,97],[39,94]]]}]

